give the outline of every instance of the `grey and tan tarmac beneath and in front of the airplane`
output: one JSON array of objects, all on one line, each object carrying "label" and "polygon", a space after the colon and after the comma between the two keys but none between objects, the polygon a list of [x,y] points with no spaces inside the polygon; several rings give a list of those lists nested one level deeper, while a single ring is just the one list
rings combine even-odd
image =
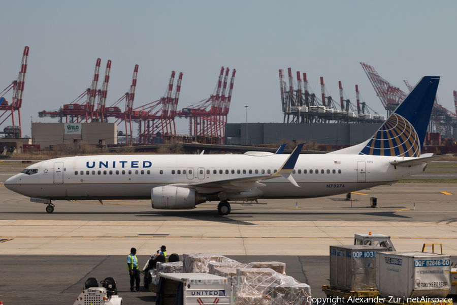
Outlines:
[{"label": "grey and tan tarmac beneath and in front of the airplane", "polygon": [[[18,170],[0,167],[0,181]],[[311,286],[313,297],[323,297],[321,286],[329,283],[329,246],[352,245],[354,233],[389,235],[398,251],[442,243],[452,262],[457,258],[457,184],[395,184],[351,198],[260,199],[232,204],[224,217],[217,202],[171,211],[154,210],[147,200],[56,201],[48,214],[44,204],[0,183],[0,301],[72,304],[89,277],[113,277],[124,304],[154,301],[151,292],[129,292],[131,247],[140,265],[161,245],[180,257],[215,252],[240,262],[282,261],[288,275]]]}]

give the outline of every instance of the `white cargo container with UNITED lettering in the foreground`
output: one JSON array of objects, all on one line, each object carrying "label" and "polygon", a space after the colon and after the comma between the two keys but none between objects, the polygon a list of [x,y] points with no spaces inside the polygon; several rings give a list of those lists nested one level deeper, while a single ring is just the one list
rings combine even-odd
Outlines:
[{"label": "white cargo container with UNITED lettering in the foreground", "polygon": [[233,305],[233,279],[209,273],[160,273],[157,298],[162,304]]}]

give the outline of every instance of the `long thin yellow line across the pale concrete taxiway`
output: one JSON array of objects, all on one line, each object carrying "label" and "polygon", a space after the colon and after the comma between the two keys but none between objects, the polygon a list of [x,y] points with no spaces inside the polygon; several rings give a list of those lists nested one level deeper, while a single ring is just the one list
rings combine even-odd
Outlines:
[{"label": "long thin yellow line across the pale concrete taxiway", "polygon": [[[2,239],[4,238],[4,239]],[[354,239],[354,237],[295,237],[295,236],[4,236],[0,242],[14,238],[265,238],[265,239]],[[457,237],[390,237],[390,239],[457,239]]]}]

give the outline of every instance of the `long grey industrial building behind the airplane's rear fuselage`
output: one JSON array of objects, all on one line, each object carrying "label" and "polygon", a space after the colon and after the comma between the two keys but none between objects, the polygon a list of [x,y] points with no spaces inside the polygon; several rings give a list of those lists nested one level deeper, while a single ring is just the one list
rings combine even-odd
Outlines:
[{"label": "long grey industrial building behind the airplane's rear fuselage", "polygon": [[[355,145],[368,140],[382,123],[373,124],[225,124],[225,143],[229,145],[280,144],[283,140],[311,141],[316,144]],[[281,143],[282,144],[282,143]]]}]

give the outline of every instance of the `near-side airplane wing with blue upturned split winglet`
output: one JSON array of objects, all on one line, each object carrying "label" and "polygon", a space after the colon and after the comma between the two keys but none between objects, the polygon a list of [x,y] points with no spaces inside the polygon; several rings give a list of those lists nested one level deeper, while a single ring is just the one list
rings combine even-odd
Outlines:
[{"label": "near-side airplane wing with blue upturned split winglet", "polygon": [[303,145],[304,144],[297,145],[297,147],[292,151],[292,153],[281,166],[281,168],[274,174],[222,179],[192,184],[173,184],[170,186],[199,189],[203,193],[212,193],[217,192],[219,190],[242,191],[259,187],[265,187],[265,185],[260,183],[259,181],[274,179],[283,176],[284,178],[289,180],[291,184],[295,185],[296,187],[300,187],[290,174],[292,173],[293,167],[295,167],[295,164],[297,163],[297,159],[300,155],[300,151],[302,150]]}]

